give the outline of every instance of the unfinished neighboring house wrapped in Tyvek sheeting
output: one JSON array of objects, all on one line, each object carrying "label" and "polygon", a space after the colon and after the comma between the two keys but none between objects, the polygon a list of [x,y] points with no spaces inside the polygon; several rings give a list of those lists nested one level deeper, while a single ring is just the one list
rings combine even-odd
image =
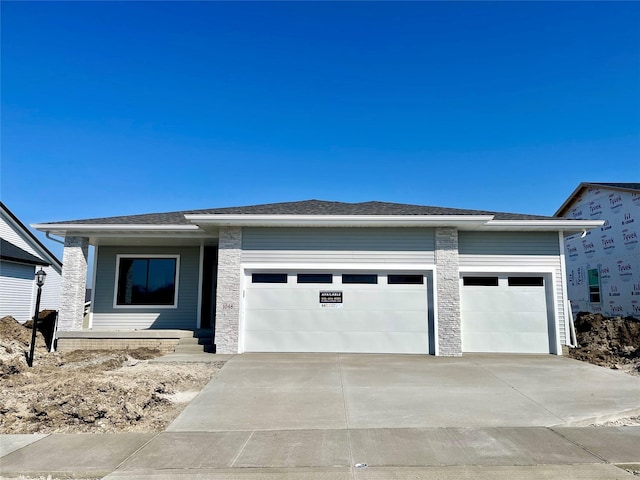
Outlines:
[{"label": "unfinished neighboring house wrapped in Tyvek sheeting", "polygon": [[565,238],[573,311],[640,318],[640,183],[581,183],[555,216],[604,220]]}]

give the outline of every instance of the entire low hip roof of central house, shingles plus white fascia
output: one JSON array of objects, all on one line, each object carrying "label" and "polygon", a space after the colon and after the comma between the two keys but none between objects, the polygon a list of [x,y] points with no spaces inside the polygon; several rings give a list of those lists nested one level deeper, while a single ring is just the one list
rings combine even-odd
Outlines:
[{"label": "entire low hip roof of central house, shingles plus white fascia", "polygon": [[[597,222],[596,222],[597,223]],[[596,223],[559,220],[541,215],[443,208],[387,202],[345,203],[322,200],[270,203],[244,207],[185,210],[120,217],[70,220],[34,225],[56,235],[67,232],[202,231],[203,227],[237,226],[426,226],[487,228],[592,228]]]}]

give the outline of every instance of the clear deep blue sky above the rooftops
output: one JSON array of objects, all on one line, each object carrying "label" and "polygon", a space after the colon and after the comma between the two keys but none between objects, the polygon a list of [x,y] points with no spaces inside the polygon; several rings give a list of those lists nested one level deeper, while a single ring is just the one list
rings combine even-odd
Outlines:
[{"label": "clear deep blue sky above the rooftops", "polygon": [[24,223],[311,198],[551,215],[581,181],[640,181],[637,2],[0,8]]}]

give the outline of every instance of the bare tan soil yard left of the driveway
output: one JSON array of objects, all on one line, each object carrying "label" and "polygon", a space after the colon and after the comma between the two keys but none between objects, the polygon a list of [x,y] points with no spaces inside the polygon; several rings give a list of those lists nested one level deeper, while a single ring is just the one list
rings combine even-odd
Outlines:
[{"label": "bare tan soil yard left of the driveway", "polygon": [[157,350],[49,353],[38,333],[0,319],[0,433],[160,432],[224,362],[150,363]]}]

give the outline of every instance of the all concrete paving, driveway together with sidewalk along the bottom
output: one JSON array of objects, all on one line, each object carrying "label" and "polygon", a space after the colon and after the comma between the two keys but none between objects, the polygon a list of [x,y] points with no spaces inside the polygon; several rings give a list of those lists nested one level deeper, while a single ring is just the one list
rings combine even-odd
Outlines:
[{"label": "all concrete paving, driveway together with sidewalk along the bottom", "polygon": [[634,478],[640,427],[566,425],[638,407],[640,379],[561,357],[245,354],[163,433],[2,435],[0,475]]}]

